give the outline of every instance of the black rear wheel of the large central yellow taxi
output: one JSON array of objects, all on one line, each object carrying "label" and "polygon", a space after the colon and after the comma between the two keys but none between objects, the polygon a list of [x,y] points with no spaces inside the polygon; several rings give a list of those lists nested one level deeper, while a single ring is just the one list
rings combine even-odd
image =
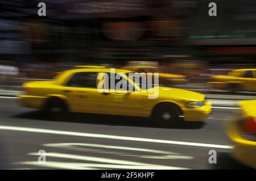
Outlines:
[{"label": "black rear wheel of the large central yellow taxi", "polygon": [[47,116],[59,118],[67,114],[68,109],[64,100],[60,98],[49,98],[44,107]]}]

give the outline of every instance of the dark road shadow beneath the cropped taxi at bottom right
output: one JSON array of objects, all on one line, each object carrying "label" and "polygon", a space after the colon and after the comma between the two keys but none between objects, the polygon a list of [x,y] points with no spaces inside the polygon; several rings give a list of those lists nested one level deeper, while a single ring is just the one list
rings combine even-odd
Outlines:
[{"label": "dark road shadow beneath the cropped taxi at bottom right", "polygon": [[253,168],[236,161],[230,153],[218,152],[217,163],[208,163],[210,170],[253,170]]}]

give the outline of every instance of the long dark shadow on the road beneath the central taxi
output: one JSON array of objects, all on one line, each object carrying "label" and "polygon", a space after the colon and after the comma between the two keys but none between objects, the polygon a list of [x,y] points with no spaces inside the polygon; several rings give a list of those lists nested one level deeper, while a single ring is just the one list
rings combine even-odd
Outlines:
[{"label": "long dark shadow on the road beneath the central taxi", "polygon": [[[68,113],[65,116],[45,115],[42,111],[30,111],[13,116],[19,119],[35,119],[43,121],[60,121],[69,123],[87,123],[87,124],[104,124],[110,126],[130,126],[130,127],[154,127],[163,128],[152,124],[151,119],[144,117],[131,116],[113,116],[113,115],[98,115],[90,113]],[[200,129],[206,123],[204,122],[183,122],[175,127],[168,127],[171,129]],[[164,127],[166,128],[166,127]]]}]

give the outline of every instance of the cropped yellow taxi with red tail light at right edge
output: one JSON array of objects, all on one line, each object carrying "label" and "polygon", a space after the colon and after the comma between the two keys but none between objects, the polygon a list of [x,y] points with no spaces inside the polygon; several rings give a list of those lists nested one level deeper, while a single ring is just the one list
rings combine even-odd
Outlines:
[{"label": "cropped yellow taxi with red tail light at right edge", "polygon": [[240,115],[226,120],[225,132],[234,143],[233,157],[256,169],[256,100],[243,100],[240,106]]}]

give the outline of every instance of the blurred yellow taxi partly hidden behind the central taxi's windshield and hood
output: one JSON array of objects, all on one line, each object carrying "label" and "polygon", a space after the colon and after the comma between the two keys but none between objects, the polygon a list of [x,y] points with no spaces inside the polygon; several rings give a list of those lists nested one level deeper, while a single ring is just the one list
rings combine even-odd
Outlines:
[{"label": "blurred yellow taxi partly hidden behind the central taxi's windshield and hood", "polygon": [[156,66],[124,66],[121,69],[131,70],[137,73],[159,73],[160,84],[184,83],[187,79],[184,75],[163,73]]}]

